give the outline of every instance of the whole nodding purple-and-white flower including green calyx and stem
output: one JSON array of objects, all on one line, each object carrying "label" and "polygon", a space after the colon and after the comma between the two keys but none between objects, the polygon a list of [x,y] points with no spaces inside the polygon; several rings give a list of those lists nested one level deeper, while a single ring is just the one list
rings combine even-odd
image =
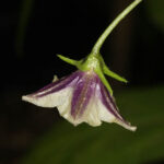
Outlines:
[{"label": "whole nodding purple-and-white flower including green calyx and stem", "polygon": [[134,131],[137,128],[125,121],[119,115],[113,90],[105,74],[125,83],[127,80],[106,66],[99,50],[117,24],[141,1],[134,0],[107,26],[84,59],[77,61],[58,55],[61,60],[75,66],[78,71],[61,80],[55,78],[52,83],[33,94],[23,96],[22,99],[37,106],[57,107],[60,115],[74,126],[87,122],[96,127],[102,121],[106,121],[116,122]]}]

